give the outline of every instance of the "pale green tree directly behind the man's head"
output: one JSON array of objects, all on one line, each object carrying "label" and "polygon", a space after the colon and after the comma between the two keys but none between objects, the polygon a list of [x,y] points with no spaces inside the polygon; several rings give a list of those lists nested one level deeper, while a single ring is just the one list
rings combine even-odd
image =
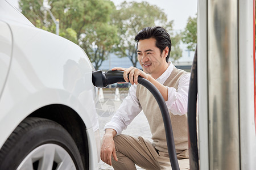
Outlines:
[{"label": "pale green tree directly behind the man's head", "polygon": [[[128,57],[136,67],[137,65],[137,47],[134,41],[135,35],[142,28],[161,25],[170,33],[172,32],[173,21],[168,22],[166,14],[162,9],[147,2],[123,2],[112,15],[112,23],[117,25],[119,44],[115,46],[115,53],[119,57]],[[172,37],[172,33],[170,33]],[[177,39],[178,41],[178,39]],[[176,41],[175,41],[176,42]],[[175,46],[175,43],[174,43]],[[174,48],[181,54],[181,49]],[[172,58],[172,53],[170,58]],[[176,56],[175,59],[181,57]]]}]

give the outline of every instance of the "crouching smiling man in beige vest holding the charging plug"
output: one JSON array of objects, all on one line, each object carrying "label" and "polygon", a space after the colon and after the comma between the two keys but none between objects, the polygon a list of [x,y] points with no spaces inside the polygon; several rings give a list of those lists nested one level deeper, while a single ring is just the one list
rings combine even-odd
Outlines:
[{"label": "crouching smiling man in beige vest holding the charging plug", "polygon": [[[180,169],[189,169],[187,137],[187,100],[190,74],[176,69],[168,62],[171,39],[162,27],[147,27],[135,36],[138,61],[135,67],[123,70],[123,78],[132,84],[128,96],[105,126],[101,159],[114,169],[171,169],[162,114],[154,96],[141,84],[138,76],[149,80],[158,88],[170,111],[174,141]],[[129,74],[129,79],[128,79]],[[142,137],[121,134],[123,129],[143,110],[152,133],[151,143]]]}]

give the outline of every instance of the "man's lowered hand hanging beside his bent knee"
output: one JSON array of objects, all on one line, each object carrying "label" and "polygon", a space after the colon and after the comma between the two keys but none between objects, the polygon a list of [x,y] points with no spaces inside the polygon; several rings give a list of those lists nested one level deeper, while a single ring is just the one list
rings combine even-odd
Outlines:
[{"label": "man's lowered hand hanging beside his bent knee", "polygon": [[105,134],[102,138],[101,145],[101,160],[106,164],[112,166],[111,157],[117,161],[117,154],[115,153],[115,143],[113,138],[117,132],[114,129],[106,129]]}]

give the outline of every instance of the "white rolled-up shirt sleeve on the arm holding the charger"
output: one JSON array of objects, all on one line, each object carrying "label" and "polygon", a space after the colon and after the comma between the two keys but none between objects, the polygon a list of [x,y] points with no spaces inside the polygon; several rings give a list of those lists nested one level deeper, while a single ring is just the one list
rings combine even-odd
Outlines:
[{"label": "white rolled-up shirt sleeve on the arm holding the charger", "polygon": [[189,79],[190,73],[187,73],[180,78],[177,90],[174,87],[167,87],[168,100],[166,105],[172,114],[183,115],[188,111]]}]

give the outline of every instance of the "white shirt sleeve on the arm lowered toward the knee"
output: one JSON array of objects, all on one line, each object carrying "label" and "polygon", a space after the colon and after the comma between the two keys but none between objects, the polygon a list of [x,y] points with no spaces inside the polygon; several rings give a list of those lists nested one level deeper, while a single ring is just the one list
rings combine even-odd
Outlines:
[{"label": "white shirt sleeve on the arm lowered toward the knee", "polygon": [[105,125],[105,129],[114,129],[117,135],[130,125],[131,121],[142,111],[139,100],[136,96],[137,85],[134,84],[129,88],[127,97],[123,99],[122,104],[112,117],[112,120]]}]

